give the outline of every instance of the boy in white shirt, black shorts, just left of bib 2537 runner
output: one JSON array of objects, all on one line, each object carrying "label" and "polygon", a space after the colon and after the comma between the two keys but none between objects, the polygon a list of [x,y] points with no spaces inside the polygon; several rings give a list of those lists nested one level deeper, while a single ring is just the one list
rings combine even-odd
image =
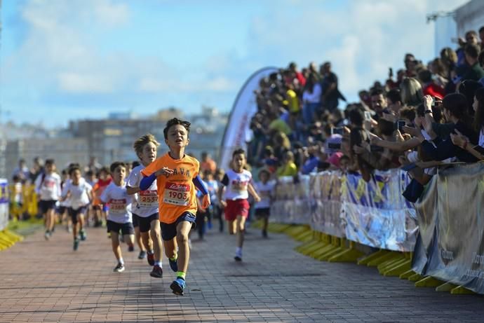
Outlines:
[{"label": "boy in white shirt, black shorts, just left of bib 2537 runner", "polygon": [[128,251],[133,252],[135,250],[135,229],[133,228],[131,214],[133,198],[126,191],[126,164],[114,162],[109,169],[112,174],[112,182],[102,192],[101,202],[109,203],[107,230],[111,233],[112,249],[118,261],[113,271],[121,273],[125,267],[121,247],[119,247],[119,231],[128,244]]}]

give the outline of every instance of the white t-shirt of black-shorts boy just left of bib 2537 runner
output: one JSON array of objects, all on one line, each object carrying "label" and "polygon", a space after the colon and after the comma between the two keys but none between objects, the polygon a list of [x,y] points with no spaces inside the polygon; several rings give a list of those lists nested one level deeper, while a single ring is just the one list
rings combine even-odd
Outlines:
[{"label": "white t-shirt of black-shorts boy just left of bib 2537 runner", "polygon": [[109,212],[107,219],[119,224],[133,222],[131,214],[131,205],[133,198],[126,192],[126,186],[117,186],[112,181],[102,192],[101,200],[103,203],[109,203]]}]

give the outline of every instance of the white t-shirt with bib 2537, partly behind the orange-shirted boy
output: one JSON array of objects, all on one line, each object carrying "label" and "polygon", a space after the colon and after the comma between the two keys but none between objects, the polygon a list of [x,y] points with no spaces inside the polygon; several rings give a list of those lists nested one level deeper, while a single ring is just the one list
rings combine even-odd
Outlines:
[{"label": "white t-shirt with bib 2537, partly behind the orange-shirted boy", "polygon": [[[130,187],[139,187],[143,175],[141,171],[144,170],[143,165],[136,166],[131,170],[126,185]],[[136,206],[133,207],[133,213],[140,217],[149,217],[152,214],[158,213],[158,191],[156,186],[156,179],[153,184],[149,186],[146,191],[140,191],[135,195]]]}]

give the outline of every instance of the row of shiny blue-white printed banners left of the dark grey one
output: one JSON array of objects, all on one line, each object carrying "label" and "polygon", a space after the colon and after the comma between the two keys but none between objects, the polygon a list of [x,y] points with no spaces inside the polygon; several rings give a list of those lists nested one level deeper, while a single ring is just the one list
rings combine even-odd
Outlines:
[{"label": "row of shiny blue-white printed banners left of the dark grey one", "polygon": [[379,172],[366,183],[340,172],[282,177],[271,221],[309,224],[316,231],[363,245],[410,252],[418,231],[415,209],[402,196],[406,172]]}]

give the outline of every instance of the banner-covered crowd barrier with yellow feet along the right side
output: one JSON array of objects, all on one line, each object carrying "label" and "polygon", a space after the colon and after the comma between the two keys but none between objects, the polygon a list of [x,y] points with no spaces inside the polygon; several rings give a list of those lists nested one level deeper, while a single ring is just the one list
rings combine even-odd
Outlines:
[{"label": "banner-covered crowd barrier with yellow feet along the right side", "polygon": [[318,260],[484,294],[484,164],[439,170],[415,205],[402,195],[409,182],[402,170],[377,172],[368,183],[340,172],[281,177],[269,231],[302,241],[296,250]]}]

